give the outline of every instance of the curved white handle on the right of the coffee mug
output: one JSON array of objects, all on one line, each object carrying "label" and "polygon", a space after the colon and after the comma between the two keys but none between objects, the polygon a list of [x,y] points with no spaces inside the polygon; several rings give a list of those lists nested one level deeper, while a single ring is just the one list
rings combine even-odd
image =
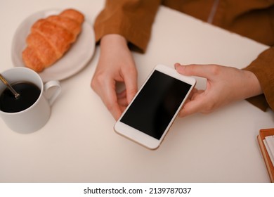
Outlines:
[{"label": "curved white handle on the right of the coffee mug", "polygon": [[60,82],[52,80],[44,84],[44,94],[51,106],[61,92]]}]

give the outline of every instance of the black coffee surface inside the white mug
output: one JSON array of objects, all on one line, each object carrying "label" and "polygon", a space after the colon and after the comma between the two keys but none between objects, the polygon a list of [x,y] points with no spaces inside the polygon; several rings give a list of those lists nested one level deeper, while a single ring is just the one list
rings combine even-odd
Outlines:
[{"label": "black coffee surface inside the white mug", "polygon": [[6,88],[0,95],[0,110],[7,113],[15,113],[32,106],[40,95],[41,90],[30,82],[17,82],[11,85],[20,94],[15,98],[14,94]]}]

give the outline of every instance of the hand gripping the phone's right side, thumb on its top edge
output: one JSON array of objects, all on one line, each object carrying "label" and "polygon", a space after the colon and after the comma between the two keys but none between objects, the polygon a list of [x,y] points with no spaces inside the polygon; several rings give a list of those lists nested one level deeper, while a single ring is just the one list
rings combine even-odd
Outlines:
[{"label": "hand gripping the phone's right side, thumb on its top edge", "polygon": [[207,87],[193,89],[179,117],[193,113],[211,113],[228,103],[262,94],[261,86],[253,72],[222,65],[180,65],[177,72],[187,76],[204,77]]}]

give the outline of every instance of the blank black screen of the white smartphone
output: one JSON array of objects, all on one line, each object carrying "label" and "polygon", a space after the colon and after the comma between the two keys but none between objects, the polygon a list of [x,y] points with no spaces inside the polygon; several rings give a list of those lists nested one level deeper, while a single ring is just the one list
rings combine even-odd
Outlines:
[{"label": "blank black screen of the white smartphone", "polygon": [[120,121],[160,139],[190,88],[155,70]]}]

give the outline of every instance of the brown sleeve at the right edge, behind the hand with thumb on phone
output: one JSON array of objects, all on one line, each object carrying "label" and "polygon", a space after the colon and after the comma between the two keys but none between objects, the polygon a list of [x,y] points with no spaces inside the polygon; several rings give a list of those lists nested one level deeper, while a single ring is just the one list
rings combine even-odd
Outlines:
[{"label": "brown sleeve at the right edge, behind the hand with thumb on phone", "polygon": [[248,98],[247,101],[261,108],[261,110],[267,108],[274,110],[274,47],[263,51],[244,70],[253,72],[263,89],[263,94]]}]

